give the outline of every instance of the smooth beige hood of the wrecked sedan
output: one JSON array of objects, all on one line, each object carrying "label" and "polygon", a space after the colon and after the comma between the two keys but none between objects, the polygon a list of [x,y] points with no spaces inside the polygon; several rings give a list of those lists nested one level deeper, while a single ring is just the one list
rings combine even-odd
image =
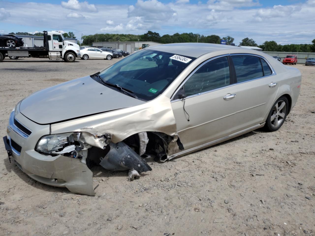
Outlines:
[{"label": "smooth beige hood of the wrecked sedan", "polygon": [[86,76],[31,94],[20,112],[38,124],[52,124],[144,103]]}]

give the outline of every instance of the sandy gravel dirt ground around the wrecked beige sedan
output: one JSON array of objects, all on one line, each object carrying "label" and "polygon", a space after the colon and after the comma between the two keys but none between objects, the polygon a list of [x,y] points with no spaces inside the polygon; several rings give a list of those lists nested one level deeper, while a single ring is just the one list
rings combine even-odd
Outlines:
[{"label": "sandy gravel dirt ground around the wrecked beige sedan", "polygon": [[[22,98],[116,60],[3,60],[1,137]],[[1,143],[0,235],[315,235],[315,67],[294,67],[301,94],[279,131],[149,163],[133,182],[127,171],[94,167],[95,197],[32,180]]]}]

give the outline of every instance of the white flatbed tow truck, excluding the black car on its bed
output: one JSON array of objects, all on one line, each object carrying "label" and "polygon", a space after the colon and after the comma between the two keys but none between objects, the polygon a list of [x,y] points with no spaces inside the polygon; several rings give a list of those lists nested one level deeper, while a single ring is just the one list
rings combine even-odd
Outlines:
[{"label": "white flatbed tow truck, excluding the black car on its bed", "polygon": [[80,46],[66,41],[62,33],[58,31],[43,31],[44,46],[35,48],[9,48],[0,47],[0,62],[5,57],[17,59],[19,57],[37,57],[49,59],[63,59],[66,62],[74,62],[80,57]]}]

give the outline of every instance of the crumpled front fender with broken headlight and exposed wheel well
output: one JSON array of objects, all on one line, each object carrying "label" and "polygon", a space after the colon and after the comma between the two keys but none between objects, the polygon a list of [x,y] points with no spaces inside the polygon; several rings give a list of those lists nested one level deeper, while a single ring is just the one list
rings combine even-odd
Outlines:
[{"label": "crumpled front fender with broken headlight and exposed wheel well", "polygon": [[[129,180],[152,170],[147,160],[164,162],[184,149],[170,100],[163,96],[138,106],[58,122],[50,126],[50,132],[55,135],[42,137],[37,152],[75,159],[89,171],[93,166],[110,171],[129,170]],[[83,182],[92,185],[92,177],[91,172],[91,177]],[[94,191],[91,194],[82,188],[70,191],[94,195]]]}]

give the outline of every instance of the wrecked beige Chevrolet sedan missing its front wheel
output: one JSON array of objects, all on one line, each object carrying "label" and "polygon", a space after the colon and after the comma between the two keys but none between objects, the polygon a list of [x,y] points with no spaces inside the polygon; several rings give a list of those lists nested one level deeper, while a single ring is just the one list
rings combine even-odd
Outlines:
[{"label": "wrecked beige Chevrolet sedan missing its front wheel", "polygon": [[93,165],[151,171],[149,156],[170,160],[257,128],[278,130],[300,86],[299,70],[259,51],[158,45],[21,100],[3,139],[31,178],[94,195]]}]

